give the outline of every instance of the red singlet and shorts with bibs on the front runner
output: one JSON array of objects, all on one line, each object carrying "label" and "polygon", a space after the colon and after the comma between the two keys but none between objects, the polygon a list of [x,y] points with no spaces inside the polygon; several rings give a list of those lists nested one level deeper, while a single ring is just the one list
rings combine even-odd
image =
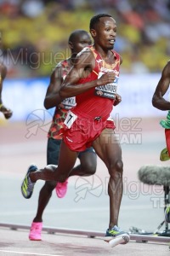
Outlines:
[{"label": "red singlet and shorts with bibs on the front runner", "polygon": [[[79,79],[78,84],[85,84],[88,81],[96,80],[107,72],[114,72],[116,77],[111,84],[96,86],[83,94],[77,95],[77,106],[69,111],[64,127],[64,141],[73,151],[82,151],[90,147],[95,138],[99,137],[99,134],[105,128],[115,128],[113,119],[109,118],[109,116],[116,99],[121,61],[120,55],[116,51],[111,50],[116,61],[114,64],[108,64],[101,58],[96,49],[94,49],[94,46],[83,49],[82,52],[88,51],[88,49],[94,55],[95,67],[87,78]],[[75,121],[72,124],[73,119]],[[83,129],[82,126],[84,127]]]}]

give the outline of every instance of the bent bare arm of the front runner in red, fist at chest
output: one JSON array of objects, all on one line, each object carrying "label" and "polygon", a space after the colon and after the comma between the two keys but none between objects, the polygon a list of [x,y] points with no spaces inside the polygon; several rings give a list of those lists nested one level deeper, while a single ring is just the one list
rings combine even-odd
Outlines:
[{"label": "bent bare arm of the front runner in red, fist at chest", "polygon": [[71,97],[77,96],[95,86],[112,83],[115,79],[115,73],[109,72],[102,75],[99,79],[85,83],[77,84],[79,79],[85,79],[93,71],[95,65],[94,54],[90,51],[83,51],[77,55],[77,60],[71,68],[70,73],[65,78],[59,90],[60,96]]}]

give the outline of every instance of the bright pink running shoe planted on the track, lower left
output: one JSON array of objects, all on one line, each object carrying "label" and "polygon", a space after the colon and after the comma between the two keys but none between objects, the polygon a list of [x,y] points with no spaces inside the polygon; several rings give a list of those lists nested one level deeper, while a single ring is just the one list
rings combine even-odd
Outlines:
[{"label": "bright pink running shoe planted on the track, lower left", "polygon": [[42,222],[32,222],[29,239],[33,241],[42,240]]}]

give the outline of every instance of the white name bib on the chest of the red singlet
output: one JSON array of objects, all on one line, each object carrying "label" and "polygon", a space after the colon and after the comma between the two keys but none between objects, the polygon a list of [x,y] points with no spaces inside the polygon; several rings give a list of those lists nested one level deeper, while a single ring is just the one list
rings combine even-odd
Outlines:
[{"label": "white name bib on the chest of the red singlet", "polygon": [[[99,72],[98,79],[103,75],[103,72]],[[94,90],[94,94],[96,96],[105,97],[114,100],[116,98],[118,77],[115,78],[113,83],[105,84],[101,86],[96,86]]]}]

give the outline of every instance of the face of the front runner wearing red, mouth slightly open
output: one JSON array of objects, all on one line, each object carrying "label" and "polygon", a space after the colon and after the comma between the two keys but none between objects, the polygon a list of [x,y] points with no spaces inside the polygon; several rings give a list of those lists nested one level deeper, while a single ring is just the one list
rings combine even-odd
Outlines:
[{"label": "face of the front runner wearing red, mouth slightly open", "polygon": [[116,20],[111,17],[102,17],[91,31],[94,43],[103,49],[113,49],[116,42]]}]

